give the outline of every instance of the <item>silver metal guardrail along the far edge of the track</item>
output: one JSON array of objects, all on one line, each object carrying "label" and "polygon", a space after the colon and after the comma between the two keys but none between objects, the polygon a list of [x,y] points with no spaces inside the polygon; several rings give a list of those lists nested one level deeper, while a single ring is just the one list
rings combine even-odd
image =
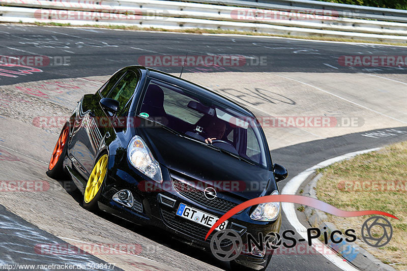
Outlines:
[{"label": "silver metal guardrail along the far edge of the track", "polygon": [[[218,2],[215,0],[191,1]],[[277,1],[288,2],[287,0]],[[316,1],[297,0],[297,2],[315,3]],[[284,6],[285,9],[279,11],[253,8],[253,6],[264,5],[264,3],[238,0],[224,0],[222,3],[235,3],[235,6],[161,0],[102,0],[102,2],[89,2],[87,0],[77,2],[71,2],[70,0],[0,0],[1,5],[7,5],[0,7],[0,21],[60,22],[72,25],[136,25],[166,29],[233,29],[276,35],[328,36],[407,42],[407,23],[346,18],[328,9],[311,10]],[[245,3],[248,7],[237,7],[238,4],[236,3]],[[66,14],[69,11],[71,13],[75,11],[73,19],[61,16],[61,14]],[[102,15],[119,14],[120,18],[117,16],[107,16],[108,18],[106,16],[89,17],[86,16],[86,12],[100,12]],[[274,17],[259,19],[259,17],[243,16],[243,18],[239,18],[238,12],[247,14],[250,12],[259,12],[261,14],[263,12]],[[407,14],[407,11],[403,12]],[[128,15],[124,15],[124,13]],[[306,15],[308,17],[304,18],[304,14],[308,14]],[[322,15],[317,16],[316,14]]]}]

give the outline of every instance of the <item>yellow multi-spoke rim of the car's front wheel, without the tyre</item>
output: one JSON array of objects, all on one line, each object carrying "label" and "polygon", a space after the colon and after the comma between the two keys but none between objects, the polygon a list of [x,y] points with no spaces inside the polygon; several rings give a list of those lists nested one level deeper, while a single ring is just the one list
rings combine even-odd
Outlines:
[{"label": "yellow multi-spoke rim of the car's front wheel, without the tyre", "polygon": [[[98,194],[103,185],[103,181],[107,171],[107,155],[103,155],[99,158],[93,167],[92,173],[89,176],[88,183],[86,184],[85,193],[83,195],[84,205],[90,205]],[[97,201],[97,199],[95,200]],[[95,203],[96,204],[96,203]],[[94,204],[92,204],[94,205]],[[86,207],[86,206],[85,206]],[[88,206],[91,207],[91,206]]]}]

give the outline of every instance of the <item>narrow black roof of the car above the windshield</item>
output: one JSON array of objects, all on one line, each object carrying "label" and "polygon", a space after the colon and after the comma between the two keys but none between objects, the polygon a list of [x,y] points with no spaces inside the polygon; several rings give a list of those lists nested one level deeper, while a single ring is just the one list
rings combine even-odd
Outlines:
[{"label": "narrow black roof of the car above the windshield", "polygon": [[247,108],[237,104],[234,101],[231,101],[230,99],[217,94],[213,91],[211,91],[208,88],[205,88],[201,85],[195,84],[193,82],[190,82],[188,80],[182,79],[180,77],[177,76],[173,76],[171,74],[156,70],[156,69],[152,69],[152,68],[147,68],[147,67],[142,67],[142,66],[133,66],[133,68],[138,68],[138,69],[146,69],[148,71],[147,76],[149,76],[150,78],[155,78],[161,81],[165,81],[167,83],[170,84],[174,84],[177,86],[180,86],[182,88],[186,88],[190,91],[194,91],[195,93],[202,95],[204,97],[207,97],[213,101],[216,101],[218,103],[221,103],[223,105],[225,105],[226,107],[230,108],[230,109],[234,109],[244,115],[250,116],[250,117],[254,117],[254,114],[248,110]]}]

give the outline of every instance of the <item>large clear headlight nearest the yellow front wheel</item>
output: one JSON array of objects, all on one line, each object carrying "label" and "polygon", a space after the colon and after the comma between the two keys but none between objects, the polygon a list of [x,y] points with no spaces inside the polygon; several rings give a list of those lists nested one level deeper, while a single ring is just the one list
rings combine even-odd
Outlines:
[{"label": "large clear headlight nearest the yellow front wheel", "polygon": [[127,159],[130,163],[157,183],[162,183],[160,164],[154,159],[146,143],[134,136],[127,147]]}]

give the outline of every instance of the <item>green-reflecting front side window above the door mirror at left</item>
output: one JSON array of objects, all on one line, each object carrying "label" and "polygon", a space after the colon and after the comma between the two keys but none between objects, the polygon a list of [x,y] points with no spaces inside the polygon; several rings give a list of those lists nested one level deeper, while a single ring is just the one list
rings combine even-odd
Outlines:
[{"label": "green-reflecting front side window above the door mirror at left", "polygon": [[107,96],[107,98],[114,99],[119,102],[118,112],[122,111],[127,102],[133,96],[137,83],[138,77],[136,73],[133,71],[128,71]]}]

